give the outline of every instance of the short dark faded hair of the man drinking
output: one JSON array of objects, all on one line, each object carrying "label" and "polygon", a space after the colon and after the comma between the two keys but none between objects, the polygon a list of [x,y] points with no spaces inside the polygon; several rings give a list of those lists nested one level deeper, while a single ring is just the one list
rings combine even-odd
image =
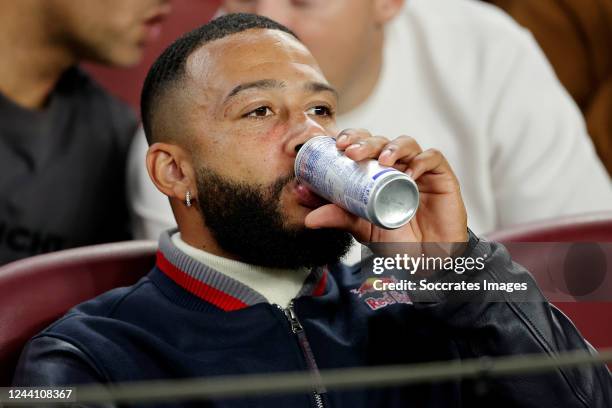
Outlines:
[{"label": "short dark faded hair of the man drinking", "polygon": [[174,41],[155,60],[142,87],[140,111],[149,144],[158,138],[153,134],[155,110],[164,92],[185,74],[189,56],[204,44],[250,29],[280,30],[299,40],[293,31],[269,18],[255,14],[227,14],[190,31]]}]

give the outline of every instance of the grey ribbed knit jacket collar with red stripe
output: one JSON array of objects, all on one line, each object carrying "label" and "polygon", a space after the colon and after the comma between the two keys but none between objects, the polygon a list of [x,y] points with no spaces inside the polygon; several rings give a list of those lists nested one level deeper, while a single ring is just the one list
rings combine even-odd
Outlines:
[{"label": "grey ribbed knit jacket collar with red stripe", "polygon": [[[176,230],[161,234],[157,251],[157,268],[190,294],[222,309],[233,311],[258,303],[267,303],[259,292],[196,261],[172,242]],[[301,296],[320,296],[327,286],[327,267],[313,268],[298,293]]]}]

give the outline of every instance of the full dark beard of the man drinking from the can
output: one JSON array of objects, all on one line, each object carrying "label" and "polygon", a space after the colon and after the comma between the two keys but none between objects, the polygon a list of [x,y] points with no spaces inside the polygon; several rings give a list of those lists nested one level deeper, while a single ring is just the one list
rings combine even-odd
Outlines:
[{"label": "full dark beard of the man drinking from the can", "polygon": [[200,168],[197,205],[217,244],[242,262],[274,268],[338,262],[351,245],[348,232],[285,226],[280,195],[293,180],[294,176],[282,177],[268,187],[257,187]]}]

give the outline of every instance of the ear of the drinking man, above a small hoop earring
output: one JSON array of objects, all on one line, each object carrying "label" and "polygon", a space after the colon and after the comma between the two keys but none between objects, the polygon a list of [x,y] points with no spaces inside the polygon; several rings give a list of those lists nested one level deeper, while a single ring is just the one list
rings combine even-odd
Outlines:
[{"label": "ear of the drinking man, above a small hoop earring", "polygon": [[191,155],[177,145],[152,144],[147,151],[147,171],[157,189],[169,198],[183,201],[187,191],[197,195]]}]

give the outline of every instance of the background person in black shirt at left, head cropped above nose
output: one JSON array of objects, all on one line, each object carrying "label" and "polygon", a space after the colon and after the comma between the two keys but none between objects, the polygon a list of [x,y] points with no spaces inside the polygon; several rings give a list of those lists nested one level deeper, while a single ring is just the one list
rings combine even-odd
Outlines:
[{"label": "background person in black shirt at left, head cropped above nose", "polygon": [[137,63],[167,0],[0,1],[0,264],[131,236],[137,121],[78,64]]}]

